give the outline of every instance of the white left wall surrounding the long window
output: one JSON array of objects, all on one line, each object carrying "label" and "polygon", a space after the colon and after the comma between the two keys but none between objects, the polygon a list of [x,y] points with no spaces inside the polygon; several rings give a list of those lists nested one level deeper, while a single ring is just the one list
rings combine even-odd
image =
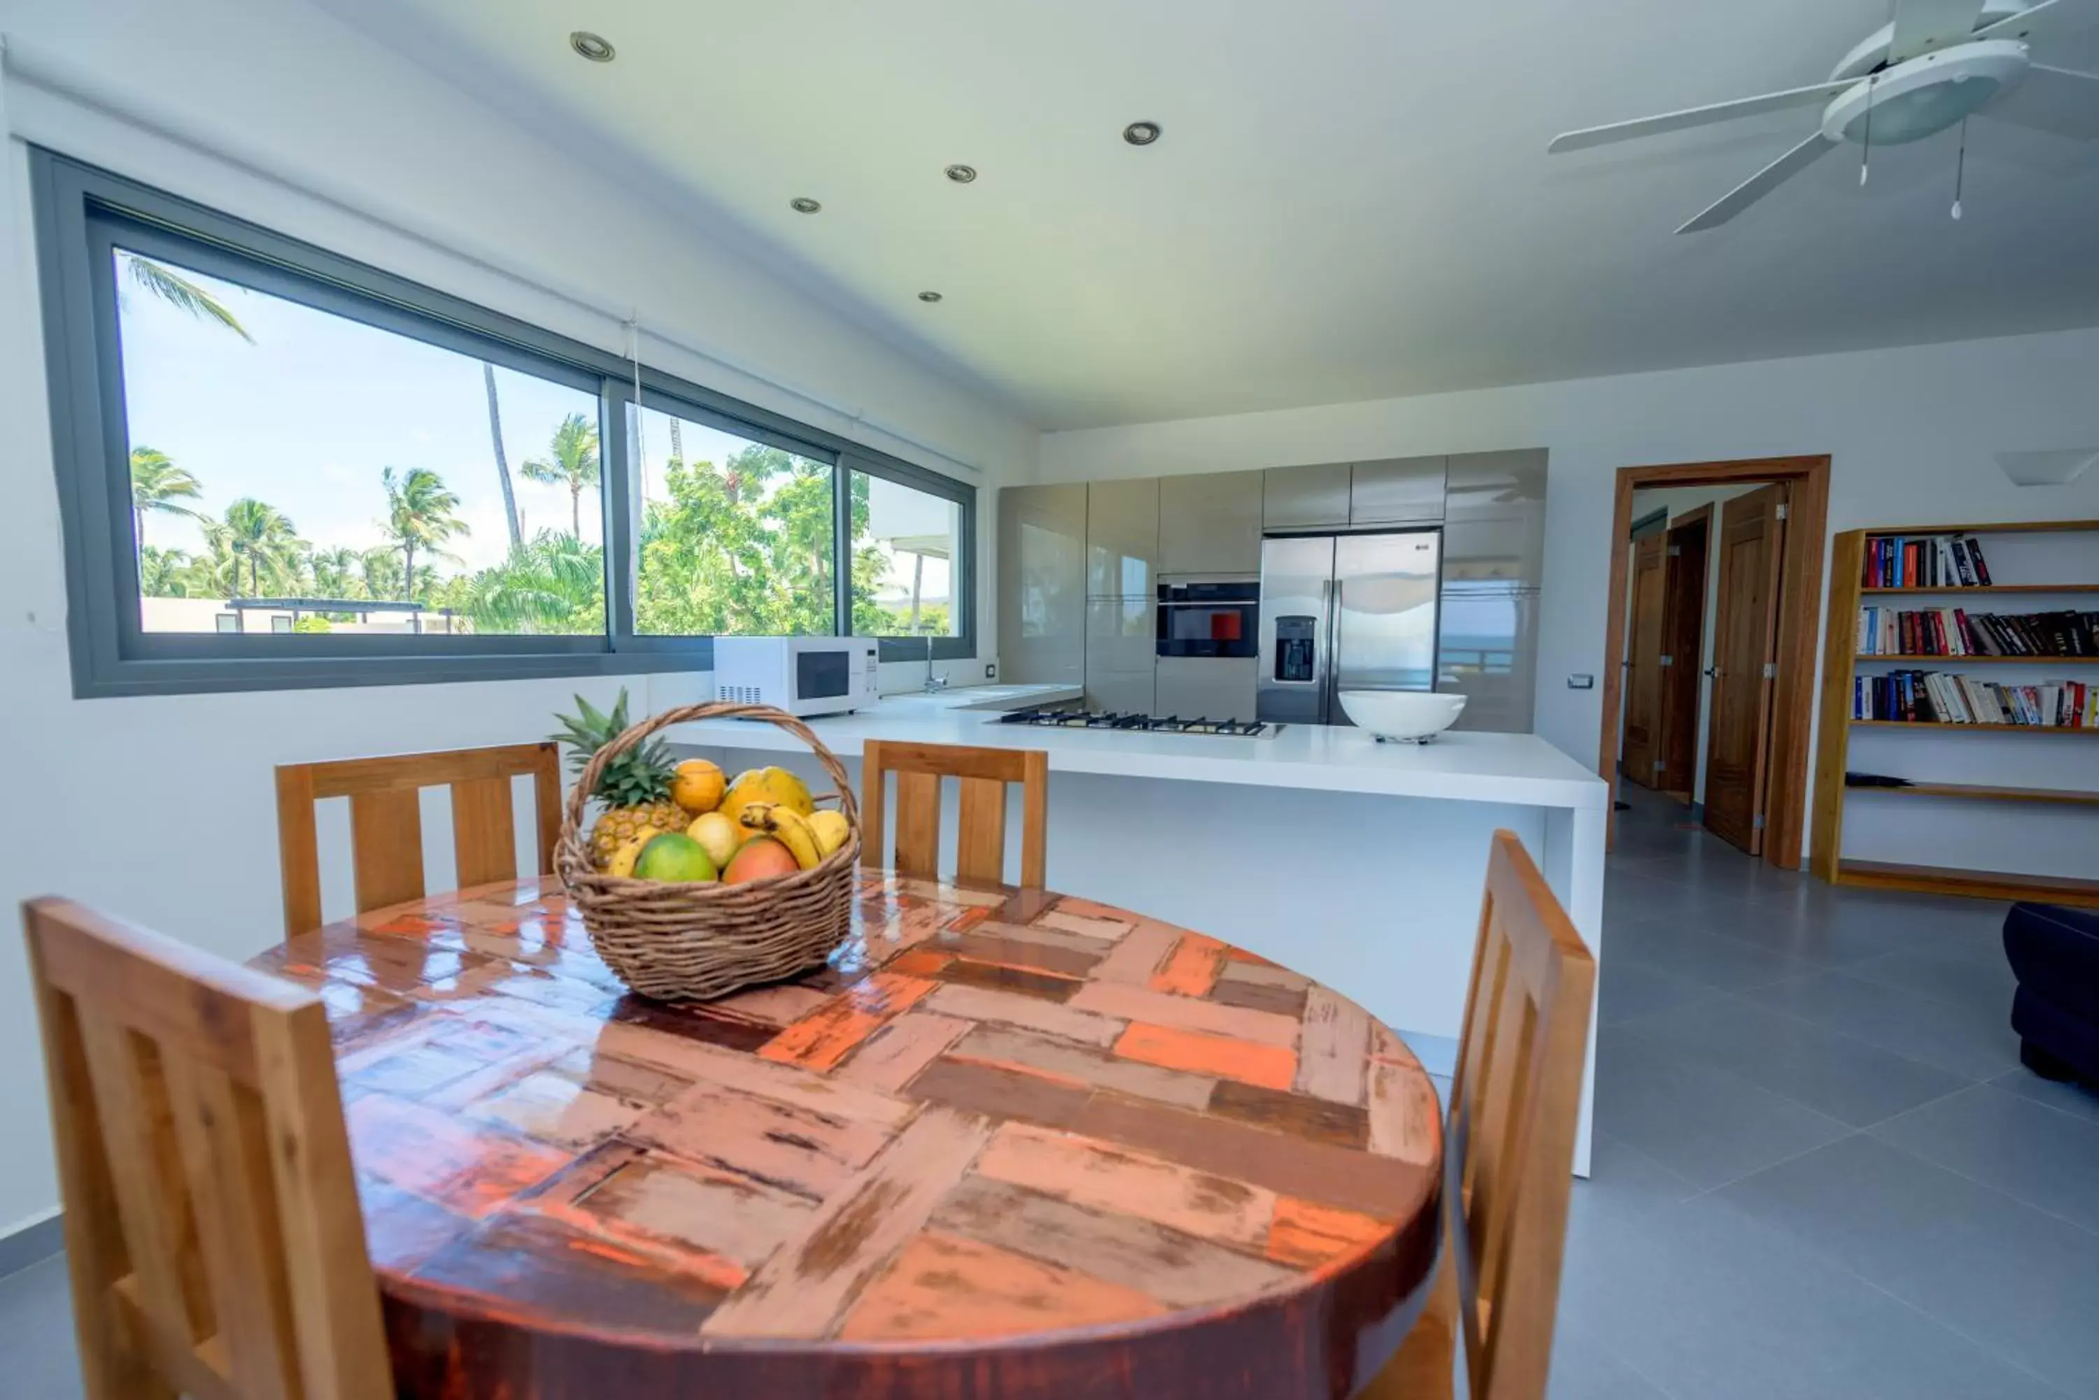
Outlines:
[{"label": "white left wall surrounding the long window", "polygon": [[[995,655],[993,497],[1035,453],[1033,428],[999,405],[304,4],[4,0],[0,31],[0,907],[65,892],[250,955],[281,928],[275,764],[537,739],[571,693],[605,703],[619,688],[71,699],[23,141],[605,348],[621,344],[619,317],[592,306],[636,306],[667,340],[644,342],[661,369],[974,481],[978,628]],[[653,678],[634,699],[693,693],[688,676]],[[0,938],[0,1121],[13,1125],[4,1234],[57,1201],[13,936]]]}]

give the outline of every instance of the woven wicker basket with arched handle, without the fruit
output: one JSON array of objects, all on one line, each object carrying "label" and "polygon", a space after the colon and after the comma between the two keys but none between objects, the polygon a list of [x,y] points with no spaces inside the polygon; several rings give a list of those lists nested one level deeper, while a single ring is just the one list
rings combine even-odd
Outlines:
[{"label": "woven wicker basket with arched handle, without the fruit", "polygon": [[[607,875],[590,861],[584,804],[605,764],[657,730],[691,720],[766,720],[817,754],[838,785],[846,844],[791,875],[724,884],[661,884]],[[819,802],[825,798],[819,798]],[[584,915],[590,947],[621,982],[661,1001],[705,1001],[775,982],[829,957],[852,930],[852,875],[861,861],[861,808],[846,768],[798,718],[770,705],[680,705],[634,724],[584,766],[563,812],[554,871]]]}]

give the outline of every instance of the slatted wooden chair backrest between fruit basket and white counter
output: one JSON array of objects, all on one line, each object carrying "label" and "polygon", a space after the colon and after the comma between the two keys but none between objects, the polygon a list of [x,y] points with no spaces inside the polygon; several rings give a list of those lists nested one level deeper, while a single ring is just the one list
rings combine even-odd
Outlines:
[{"label": "slatted wooden chair backrest between fruit basket and white counter", "polygon": [[[896,854],[884,850],[886,783],[896,775]],[[861,754],[861,861],[940,873],[940,779],[961,781],[955,875],[1005,884],[1005,785],[1020,783],[1020,884],[1043,888],[1050,858],[1050,756],[869,739]]]}]

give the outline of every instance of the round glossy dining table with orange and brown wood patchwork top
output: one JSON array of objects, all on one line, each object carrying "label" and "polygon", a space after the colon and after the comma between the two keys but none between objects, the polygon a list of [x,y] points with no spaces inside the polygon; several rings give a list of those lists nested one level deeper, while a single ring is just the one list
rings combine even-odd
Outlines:
[{"label": "round glossy dining table with orange and brown wood patchwork top", "polygon": [[554,879],[256,959],[330,1005],[401,1396],[1369,1383],[1438,1247],[1392,1031],[1073,896],[869,871],[856,905],[827,966],[703,1005],[628,993]]}]

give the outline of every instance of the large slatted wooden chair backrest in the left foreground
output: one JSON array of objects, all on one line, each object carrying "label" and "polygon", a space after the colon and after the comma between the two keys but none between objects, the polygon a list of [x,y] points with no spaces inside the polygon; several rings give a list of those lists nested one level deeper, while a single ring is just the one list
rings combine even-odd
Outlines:
[{"label": "large slatted wooden chair backrest in the left foreground", "polygon": [[319,997],[65,900],[23,928],[86,1394],[393,1396]]}]

